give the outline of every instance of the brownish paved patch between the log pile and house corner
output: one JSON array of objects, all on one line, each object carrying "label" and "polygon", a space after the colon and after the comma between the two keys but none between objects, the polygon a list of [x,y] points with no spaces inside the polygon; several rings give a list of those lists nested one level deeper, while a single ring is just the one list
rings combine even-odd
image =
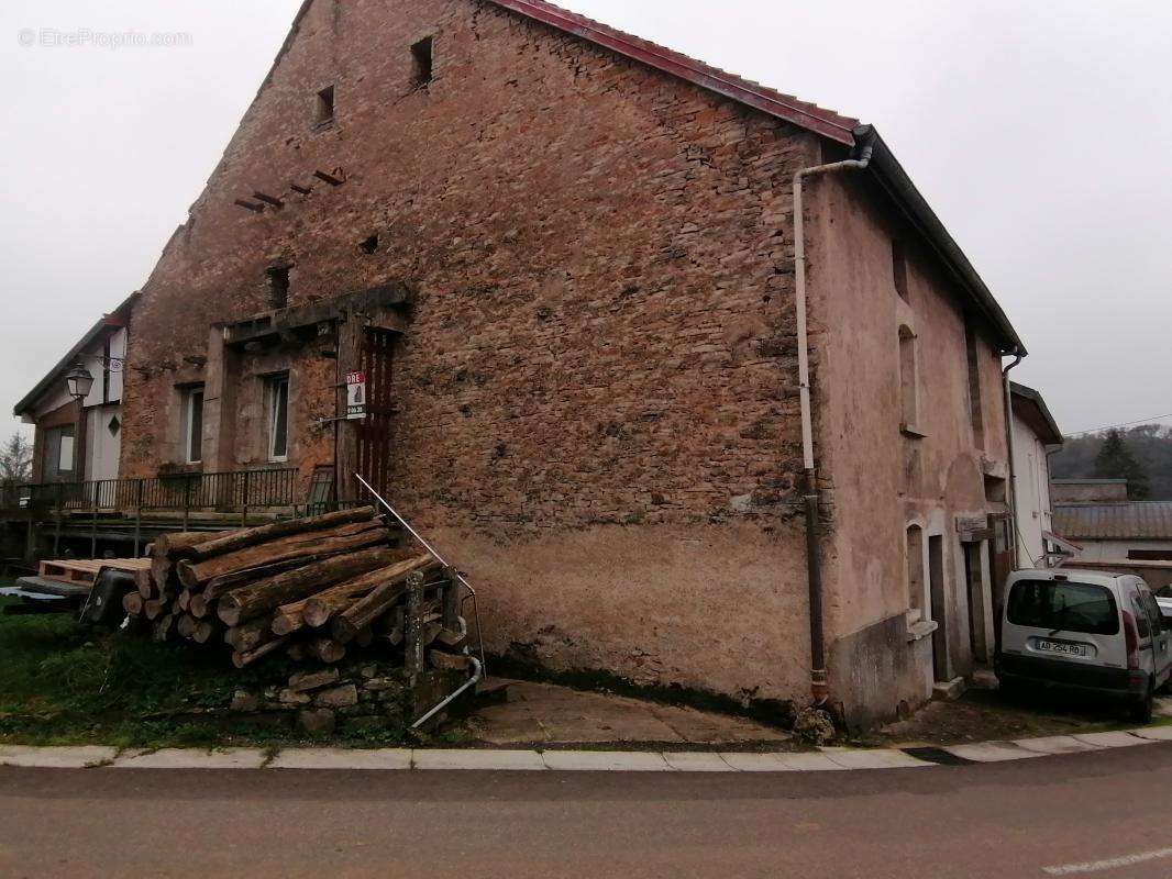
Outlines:
[{"label": "brownish paved patch between the log pile and house corner", "polygon": [[781,747],[784,730],[744,717],[663,706],[607,693],[590,693],[531,681],[497,679],[506,701],[485,706],[466,721],[468,731],[495,747],[552,744]]}]

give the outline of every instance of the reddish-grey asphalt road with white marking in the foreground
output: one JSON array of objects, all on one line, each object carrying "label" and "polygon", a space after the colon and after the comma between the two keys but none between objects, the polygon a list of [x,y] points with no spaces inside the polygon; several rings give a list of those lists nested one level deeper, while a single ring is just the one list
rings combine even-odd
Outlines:
[{"label": "reddish-grey asphalt road with white marking in the foreground", "polygon": [[0,877],[1132,879],[1172,875],[1170,811],[1172,744],[769,775],[0,768]]}]

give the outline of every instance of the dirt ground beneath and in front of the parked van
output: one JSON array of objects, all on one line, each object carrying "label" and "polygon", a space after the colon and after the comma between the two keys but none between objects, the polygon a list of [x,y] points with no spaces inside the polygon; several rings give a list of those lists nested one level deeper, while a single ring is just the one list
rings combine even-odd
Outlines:
[{"label": "dirt ground beneath and in front of the parked van", "polygon": [[[1157,700],[1157,720],[1172,715],[1172,699]],[[931,702],[907,721],[892,723],[868,744],[943,745],[996,738],[1096,732],[1137,725],[1110,702],[1058,693],[1029,693],[1008,699],[996,689],[968,689],[953,702]]]}]

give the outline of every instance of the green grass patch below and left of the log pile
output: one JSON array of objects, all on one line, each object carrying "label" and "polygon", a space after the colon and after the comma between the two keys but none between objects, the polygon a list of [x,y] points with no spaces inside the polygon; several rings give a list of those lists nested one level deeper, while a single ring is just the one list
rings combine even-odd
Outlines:
[{"label": "green grass patch below and left of the log pile", "polygon": [[[14,599],[0,599],[0,608]],[[282,687],[301,668],[272,656],[236,669],[226,649],[156,643],[73,614],[0,613],[0,742],[212,748],[301,744],[291,718],[231,714],[237,689]],[[341,720],[341,718],[340,718]],[[340,723],[334,744],[395,744],[401,729]]]}]

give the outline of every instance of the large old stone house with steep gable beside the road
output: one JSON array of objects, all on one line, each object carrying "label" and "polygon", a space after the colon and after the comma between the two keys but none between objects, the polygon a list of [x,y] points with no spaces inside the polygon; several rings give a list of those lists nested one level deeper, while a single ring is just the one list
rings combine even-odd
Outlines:
[{"label": "large old stone house with steep gable beside the road", "polygon": [[857,724],[989,656],[1024,350],[856,120],[538,0],[307,0],[130,325],[124,477],[360,472],[492,652]]}]

